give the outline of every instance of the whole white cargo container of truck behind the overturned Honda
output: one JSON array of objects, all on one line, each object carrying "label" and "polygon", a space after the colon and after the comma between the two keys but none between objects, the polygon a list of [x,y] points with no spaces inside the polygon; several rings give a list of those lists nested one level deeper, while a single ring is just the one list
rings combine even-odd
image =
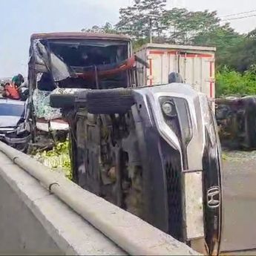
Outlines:
[{"label": "whole white cargo container of truck behind the overturned Honda", "polygon": [[168,83],[168,74],[180,73],[184,82],[210,99],[215,96],[214,47],[188,45],[142,46],[135,54],[148,62],[149,68],[137,63],[137,78],[140,86]]}]

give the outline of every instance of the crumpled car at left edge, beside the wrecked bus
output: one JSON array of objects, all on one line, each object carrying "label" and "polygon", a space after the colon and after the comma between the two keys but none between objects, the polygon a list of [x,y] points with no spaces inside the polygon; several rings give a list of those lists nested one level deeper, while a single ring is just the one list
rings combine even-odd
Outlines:
[{"label": "crumpled car at left edge, beside the wrecked bus", "polygon": [[27,119],[27,102],[0,99],[0,140],[13,148],[26,151],[30,141]]}]

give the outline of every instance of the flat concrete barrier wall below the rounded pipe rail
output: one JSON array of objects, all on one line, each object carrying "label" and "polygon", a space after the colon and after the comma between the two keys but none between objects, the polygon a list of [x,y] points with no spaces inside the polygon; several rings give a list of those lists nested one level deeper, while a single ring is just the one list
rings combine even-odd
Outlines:
[{"label": "flat concrete barrier wall below the rounded pipe rail", "polygon": [[1,255],[125,255],[0,153]]}]

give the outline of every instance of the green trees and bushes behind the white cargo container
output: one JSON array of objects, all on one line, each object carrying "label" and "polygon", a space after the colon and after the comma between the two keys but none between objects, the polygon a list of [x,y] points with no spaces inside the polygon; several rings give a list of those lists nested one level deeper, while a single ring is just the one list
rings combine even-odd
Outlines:
[{"label": "green trees and bushes behind the white cargo container", "polygon": [[135,49],[149,41],[150,31],[156,43],[217,47],[217,96],[255,94],[256,29],[240,34],[228,22],[216,11],[168,10],[166,0],[142,0],[120,8],[117,24],[82,31],[128,34]]}]

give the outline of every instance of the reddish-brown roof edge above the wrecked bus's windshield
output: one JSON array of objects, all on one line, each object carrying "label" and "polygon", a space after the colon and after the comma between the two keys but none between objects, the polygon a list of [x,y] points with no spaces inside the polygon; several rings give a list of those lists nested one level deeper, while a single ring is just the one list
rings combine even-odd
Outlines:
[{"label": "reddish-brown roof edge above the wrecked bus's windshield", "polygon": [[111,33],[85,33],[85,32],[56,32],[56,33],[35,33],[30,37],[33,39],[109,39],[130,41],[129,36]]}]

